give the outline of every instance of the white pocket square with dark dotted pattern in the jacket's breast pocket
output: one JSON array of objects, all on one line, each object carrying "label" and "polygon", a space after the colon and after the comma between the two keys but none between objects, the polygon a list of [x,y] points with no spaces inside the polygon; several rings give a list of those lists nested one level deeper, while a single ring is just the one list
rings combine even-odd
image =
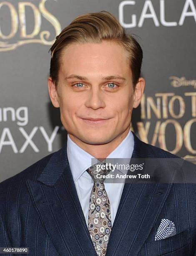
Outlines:
[{"label": "white pocket square with dark dotted pattern in the jacket's breast pocket", "polygon": [[161,224],[158,227],[158,230],[155,235],[155,240],[165,239],[170,236],[176,235],[176,227],[171,220],[162,219]]}]

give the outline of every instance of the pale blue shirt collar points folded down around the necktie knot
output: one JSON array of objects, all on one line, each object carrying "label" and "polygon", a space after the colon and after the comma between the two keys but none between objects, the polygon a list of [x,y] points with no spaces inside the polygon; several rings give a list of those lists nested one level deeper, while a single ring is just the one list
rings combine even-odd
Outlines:
[{"label": "pale blue shirt collar points folded down around the necktie knot", "polygon": [[[133,153],[133,147],[134,138],[131,130],[129,130],[126,138],[121,141],[121,143],[107,156],[107,158],[128,159],[129,163]],[[73,142],[69,135],[67,140],[67,156],[74,182],[76,182],[86,169],[92,165],[92,159],[95,159],[94,156],[91,156],[88,152]],[[98,162],[98,160],[96,162]]]}]

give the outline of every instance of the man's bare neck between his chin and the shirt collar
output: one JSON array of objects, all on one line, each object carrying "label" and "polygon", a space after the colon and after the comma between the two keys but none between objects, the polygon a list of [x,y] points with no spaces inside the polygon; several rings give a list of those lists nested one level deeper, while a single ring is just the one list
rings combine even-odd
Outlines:
[{"label": "man's bare neck between his chin and the shirt collar", "polygon": [[123,141],[123,139],[126,138],[129,130],[130,126],[126,129],[126,131],[118,135],[112,141],[100,145],[87,144],[83,141],[80,141],[72,134],[68,133],[68,135],[70,139],[75,142],[80,148],[88,152],[91,156],[95,157],[99,161],[103,161],[115,148],[117,148],[117,146]]}]

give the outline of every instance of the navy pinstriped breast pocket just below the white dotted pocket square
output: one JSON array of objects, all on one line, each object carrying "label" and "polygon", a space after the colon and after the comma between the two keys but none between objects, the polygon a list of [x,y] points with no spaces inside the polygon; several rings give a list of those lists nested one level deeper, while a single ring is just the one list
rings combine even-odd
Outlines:
[{"label": "navy pinstriped breast pocket just below the white dotted pocket square", "polygon": [[181,233],[158,241],[144,243],[140,255],[150,256],[187,256],[190,255],[189,249],[189,229]]}]

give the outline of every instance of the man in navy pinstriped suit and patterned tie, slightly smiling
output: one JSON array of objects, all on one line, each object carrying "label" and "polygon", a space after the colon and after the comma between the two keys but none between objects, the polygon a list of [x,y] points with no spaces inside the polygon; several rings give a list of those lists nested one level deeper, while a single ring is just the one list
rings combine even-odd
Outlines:
[{"label": "man in navy pinstriped suit and patterned tie, slightly smiling", "polygon": [[130,131],[145,85],[137,41],[103,11],[77,17],[50,50],[48,90],[68,141],[0,184],[0,247],[33,256],[193,255],[195,184],[94,179],[106,158],[175,157]]}]

